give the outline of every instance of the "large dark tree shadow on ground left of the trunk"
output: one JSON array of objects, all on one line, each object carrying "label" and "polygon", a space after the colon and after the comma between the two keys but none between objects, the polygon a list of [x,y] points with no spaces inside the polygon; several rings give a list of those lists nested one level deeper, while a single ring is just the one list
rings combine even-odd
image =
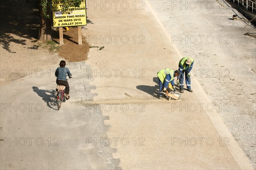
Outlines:
[{"label": "large dark tree shadow on ground left of the trunk", "polygon": [[21,45],[31,44],[38,37],[39,13],[37,3],[26,1],[1,1],[0,3],[0,45],[10,53],[16,53],[10,47],[11,43]]}]

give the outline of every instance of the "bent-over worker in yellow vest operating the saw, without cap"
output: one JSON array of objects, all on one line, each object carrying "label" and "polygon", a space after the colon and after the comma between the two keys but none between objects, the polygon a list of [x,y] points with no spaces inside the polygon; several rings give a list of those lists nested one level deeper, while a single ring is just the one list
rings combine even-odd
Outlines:
[{"label": "bent-over worker in yellow vest operating the saw, without cap", "polygon": [[166,89],[168,87],[168,84],[172,84],[172,89],[175,91],[175,86],[174,86],[174,78],[180,76],[180,71],[176,70],[174,71],[173,69],[162,69],[159,72],[157,72],[157,77],[159,80],[159,93],[158,95],[161,97],[163,96],[163,92],[166,92]]}]

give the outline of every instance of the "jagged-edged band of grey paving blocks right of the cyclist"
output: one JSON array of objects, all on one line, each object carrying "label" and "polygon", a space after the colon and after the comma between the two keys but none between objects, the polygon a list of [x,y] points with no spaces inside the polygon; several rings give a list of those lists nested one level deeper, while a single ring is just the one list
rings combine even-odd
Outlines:
[{"label": "jagged-edged band of grey paving blocks right of the cyclist", "polygon": [[81,61],[68,63],[67,67],[77,77],[77,79],[72,80],[73,86],[70,87],[70,91],[73,93],[73,99],[79,104],[79,107],[82,107],[79,112],[81,117],[78,120],[83,120],[85,125],[84,135],[80,140],[83,142],[80,147],[84,151],[88,150],[85,153],[90,159],[92,169],[118,170],[120,168],[118,167],[119,159],[112,156],[116,150],[109,147],[105,140],[108,139],[106,131],[108,131],[109,126],[105,125],[104,120],[108,120],[109,117],[104,116],[99,107],[90,104],[93,101],[93,96],[97,95],[91,92],[91,90],[96,89],[95,85],[90,85],[93,76],[87,74],[87,69],[91,69],[91,66],[86,61]]}]

